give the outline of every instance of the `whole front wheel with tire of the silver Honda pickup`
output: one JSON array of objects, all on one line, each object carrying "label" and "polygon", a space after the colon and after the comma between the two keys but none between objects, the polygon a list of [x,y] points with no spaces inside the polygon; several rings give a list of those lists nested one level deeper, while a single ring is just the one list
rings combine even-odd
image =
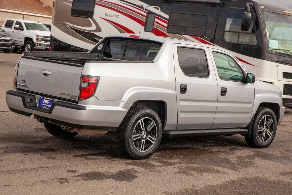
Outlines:
[{"label": "whole front wheel with tire of the silver Honda pickup", "polygon": [[254,148],[266,148],[272,144],[277,132],[277,118],[270,108],[258,108],[251,136],[245,136],[246,143]]}]

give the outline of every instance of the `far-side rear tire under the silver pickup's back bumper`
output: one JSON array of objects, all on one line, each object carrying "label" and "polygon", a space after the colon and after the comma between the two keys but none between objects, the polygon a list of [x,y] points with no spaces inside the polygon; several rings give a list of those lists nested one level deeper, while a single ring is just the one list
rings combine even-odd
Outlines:
[{"label": "far-side rear tire under the silver pickup's back bumper", "polygon": [[64,129],[60,125],[56,125],[53,123],[45,122],[44,123],[46,130],[53,136],[59,138],[72,138],[76,136],[78,133],[76,132],[69,132]]}]

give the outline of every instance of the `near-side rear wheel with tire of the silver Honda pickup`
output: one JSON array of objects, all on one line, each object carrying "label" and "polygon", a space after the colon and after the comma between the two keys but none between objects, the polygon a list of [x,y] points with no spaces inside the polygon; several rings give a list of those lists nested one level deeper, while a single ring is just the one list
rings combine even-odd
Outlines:
[{"label": "near-side rear wheel with tire of the silver Honda pickup", "polygon": [[156,112],[148,108],[131,108],[117,130],[119,149],[134,159],[152,156],[161,137],[161,120]]}]

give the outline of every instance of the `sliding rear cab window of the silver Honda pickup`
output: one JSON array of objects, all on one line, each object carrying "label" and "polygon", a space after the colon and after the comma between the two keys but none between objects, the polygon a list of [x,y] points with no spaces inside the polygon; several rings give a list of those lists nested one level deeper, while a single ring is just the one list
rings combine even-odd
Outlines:
[{"label": "sliding rear cab window of the silver Honda pickup", "polygon": [[103,57],[119,60],[153,60],[161,44],[134,41],[109,40],[105,45]]}]

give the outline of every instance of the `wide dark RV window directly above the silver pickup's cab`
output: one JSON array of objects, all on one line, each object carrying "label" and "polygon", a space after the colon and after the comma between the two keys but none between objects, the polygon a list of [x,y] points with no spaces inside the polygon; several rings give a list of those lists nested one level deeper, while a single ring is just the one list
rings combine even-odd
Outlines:
[{"label": "wide dark RV window directly above the silver pickup's cab", "polygon": [[204,37],[208,24],[208,15],[192,13],[170,13],[167,32]]}]

